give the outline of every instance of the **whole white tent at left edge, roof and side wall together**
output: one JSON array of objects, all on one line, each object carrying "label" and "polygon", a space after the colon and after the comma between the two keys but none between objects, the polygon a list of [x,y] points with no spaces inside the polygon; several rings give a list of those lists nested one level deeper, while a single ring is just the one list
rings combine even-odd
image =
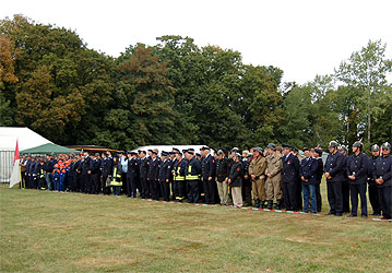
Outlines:
[{"label": "whole white tent at left edge, roof and side wall together", "polygon": [[35,147],[51,141],[27,127],[0,127],[0,182],[10,182],[16,140],[19,151]]}]

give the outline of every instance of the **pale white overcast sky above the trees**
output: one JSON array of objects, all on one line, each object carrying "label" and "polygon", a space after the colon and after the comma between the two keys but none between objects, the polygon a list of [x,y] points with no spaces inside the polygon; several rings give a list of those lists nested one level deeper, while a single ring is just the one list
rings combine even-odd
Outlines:
[{"label": "pale white overcast sky above the trees", "polygon": [[0,19],[23,14],[75,31],[90,48],[114,57],[162,35],[194,38],[242,54],[245,63],[275,66],[284,81],[333,73],[368,40],[392,56],[391,0],[10,0]]}]

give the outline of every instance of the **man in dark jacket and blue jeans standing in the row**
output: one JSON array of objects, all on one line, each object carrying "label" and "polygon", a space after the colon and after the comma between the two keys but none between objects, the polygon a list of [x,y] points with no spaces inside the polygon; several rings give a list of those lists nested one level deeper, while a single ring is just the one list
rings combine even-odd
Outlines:
[{"label": "man in dark jacket and blue jeans standing in the row", "polygon": [[300,163],[299,176],[302,181],[304,212],[309,212],[309,200],[311,200],[311,212],[316,214],[316,171],[318,168],[318,162],[311,156],[311,151],[308,147],[304,147],[302,151],[305,158]]}]

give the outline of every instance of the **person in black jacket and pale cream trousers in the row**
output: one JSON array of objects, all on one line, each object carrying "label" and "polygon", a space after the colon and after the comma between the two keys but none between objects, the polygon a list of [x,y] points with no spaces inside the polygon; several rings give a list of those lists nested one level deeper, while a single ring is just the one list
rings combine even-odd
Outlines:
[{"label": "person in black jacket and pale cream trousers in the row", "polygon": [[234,164],[230,168],[228,175],[228,186],[231,188],[233,194],[233,205],[235,207],[242,206],[242,176],[243,176],[243,165],[240,161],[241,155],[239,153],[234,154]]}]

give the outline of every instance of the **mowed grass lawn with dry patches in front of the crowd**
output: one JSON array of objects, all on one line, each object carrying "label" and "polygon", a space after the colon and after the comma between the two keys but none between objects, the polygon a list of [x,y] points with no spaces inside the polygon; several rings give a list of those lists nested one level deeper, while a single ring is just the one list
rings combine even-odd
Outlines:
[{"label": "mowed grass lawn with dry patches in front of the crowd", "polygon": [[392,272],[392,223],[371,217],[5,186],[0,204],[1,272]]}]

